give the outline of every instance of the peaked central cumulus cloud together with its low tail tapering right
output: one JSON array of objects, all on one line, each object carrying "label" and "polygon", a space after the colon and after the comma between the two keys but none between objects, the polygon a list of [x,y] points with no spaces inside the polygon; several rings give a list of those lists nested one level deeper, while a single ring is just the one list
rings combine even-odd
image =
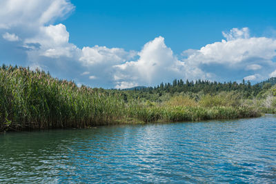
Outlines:
[{"label": "peaked central cumulus cloud together with its low tail tapering right", "polygon": [[163,37],[146,43],[138,55],[137,61],[115,65],[116,88],[131,88],[133,83],[157,85],[161,81],[171,82],[173,79],[208,79],[213,76],[197,66],[180,61],[166,46]]}]

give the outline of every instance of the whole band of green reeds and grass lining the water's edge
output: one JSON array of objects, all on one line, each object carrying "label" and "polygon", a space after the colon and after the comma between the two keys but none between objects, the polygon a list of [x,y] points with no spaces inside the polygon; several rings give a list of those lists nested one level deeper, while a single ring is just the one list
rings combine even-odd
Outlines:
[{"label": "whole band of green reeds and grass lining the water's edge", "polygon": [[230,103],[228,95],[204,96],[200,101],[175,96],[164,103],[124,100],[119,92],[77,87],[43,71],[0,69],[0,132],[62,127],[90,127],[114,123],[199,121],[260,116],[247,106]]}]

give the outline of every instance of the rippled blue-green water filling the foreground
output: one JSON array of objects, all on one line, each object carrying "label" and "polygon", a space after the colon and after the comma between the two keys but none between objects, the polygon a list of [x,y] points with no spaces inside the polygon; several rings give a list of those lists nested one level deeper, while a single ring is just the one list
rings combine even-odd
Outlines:
[{"label": "rippled blue-green water filling the foreground", "polygon": [[0,134],[0,183],[275,183],[276,117]]}]

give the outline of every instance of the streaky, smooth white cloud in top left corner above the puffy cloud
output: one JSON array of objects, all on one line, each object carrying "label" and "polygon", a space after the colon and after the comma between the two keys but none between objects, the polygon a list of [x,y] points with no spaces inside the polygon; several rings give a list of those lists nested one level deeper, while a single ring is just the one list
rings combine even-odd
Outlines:
[{"label": "streaky, smooth white cloud in top left corner above the puffy cloud", "polygon": [[[37,28],[66,16],[75,6],[67,0],[0,1],[0,28]],[[23,30],[22,30],[23,31]]]}]

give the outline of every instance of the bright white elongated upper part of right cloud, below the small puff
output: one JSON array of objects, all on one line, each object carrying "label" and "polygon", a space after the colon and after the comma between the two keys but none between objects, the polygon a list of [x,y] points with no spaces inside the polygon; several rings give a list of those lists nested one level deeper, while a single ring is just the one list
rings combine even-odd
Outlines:
[{"label": "bright white elongated upper part of right cloud, below the small puff", "polygon": [[[276,56],[276,40],[265,37],[235,39],[208,44],[198,52],[191,54],[186,60],[189,63],[218,63],[237,66],[250,59],[270,60]],[[246,63],[248,64],[248,63]]]}]

